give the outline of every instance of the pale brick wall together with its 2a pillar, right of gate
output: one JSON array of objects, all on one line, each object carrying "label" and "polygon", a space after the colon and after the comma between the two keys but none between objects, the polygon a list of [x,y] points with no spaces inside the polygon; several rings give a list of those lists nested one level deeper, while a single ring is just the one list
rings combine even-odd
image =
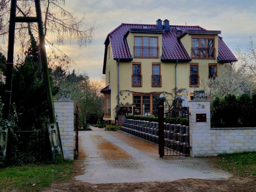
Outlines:
[{"label": "pale brick wall together with its 2a pillar, right of gate", "polygon": [[[211,128],[209,100],[189,101],[190,156],[216,156],[256,150],[256,128]],[[206,122],[196,122],[206,114]]]}]

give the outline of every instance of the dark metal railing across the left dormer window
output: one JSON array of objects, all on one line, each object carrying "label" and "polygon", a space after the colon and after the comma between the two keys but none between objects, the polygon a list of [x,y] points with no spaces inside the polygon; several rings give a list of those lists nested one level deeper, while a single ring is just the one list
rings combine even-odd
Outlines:
[{"label": "dark metal railing across the left dormer window", "polygon": [[159,47],[133,47],[134,58],[159,58]]}]

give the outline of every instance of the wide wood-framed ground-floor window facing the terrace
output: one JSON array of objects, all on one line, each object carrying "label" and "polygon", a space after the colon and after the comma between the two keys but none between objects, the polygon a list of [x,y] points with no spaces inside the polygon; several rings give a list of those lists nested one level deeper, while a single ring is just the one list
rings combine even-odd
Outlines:
[{"label": "wide wood-framed ground-floor window facing the terrace", "polygon": [[134,107],[135,115],[152,116],[154,110],[153,102],[159,95],[160,94],[133,94],[133,104],[136,105],[136,107]]}]

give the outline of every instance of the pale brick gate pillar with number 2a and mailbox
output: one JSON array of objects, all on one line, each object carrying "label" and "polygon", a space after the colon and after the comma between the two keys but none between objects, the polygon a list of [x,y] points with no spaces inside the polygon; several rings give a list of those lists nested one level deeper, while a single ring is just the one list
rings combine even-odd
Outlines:
[{"label": "pale brick gate pillar with number 2a and mailbox", "polygon": [[[211,151],[205,133],[211,132],[210,100],[195,99],[189,101],[189,140],[190,156],[205,155],[204,151]],[[211,141],[210,141],[211,142]]]}]

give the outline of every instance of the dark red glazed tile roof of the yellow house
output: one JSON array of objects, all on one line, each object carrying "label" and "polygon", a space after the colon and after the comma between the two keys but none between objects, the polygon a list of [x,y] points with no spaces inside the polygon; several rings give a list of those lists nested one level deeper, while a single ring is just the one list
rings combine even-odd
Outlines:
[{"label": "dark red glazed tile roof of the yellow house", "polygon": [[[128,47],[127,40],[124,38],[125,33],[129,28],[140,28],[142,26],[146,26],[148,29],[156,29],[156,25],[148,25],[148,24],[126,24],[122,23],[113,31],[111,31],[105,41],[105,45],[108,45],[110,42],[112,54],[114,60],[117,59],[131,59],[132,55],[130,50],[132,47]],[[180,31],[176,30],[176,27],[180,27]],[[181,41],[179,40],[179,36],[186,32],[187,30],[198,30],[198,31],[207,31],[200,26],[174,26],[170,25],[170,30],[165,31],[162,35],[162,60],[191,60],[188,55],[188,52],[185,50]],[[106,47],[105,47],[106,49]],[[160,53],[161,55],[161,53]],[[106,65],[106,50],[104,56],[104,66],[103,66],[103,74],[105,74],[105,65]],[[222,38],[219,37],[219,57],[218,61],[236,61],[236,57],[229,50],[228,46],[223,42]]]}]

